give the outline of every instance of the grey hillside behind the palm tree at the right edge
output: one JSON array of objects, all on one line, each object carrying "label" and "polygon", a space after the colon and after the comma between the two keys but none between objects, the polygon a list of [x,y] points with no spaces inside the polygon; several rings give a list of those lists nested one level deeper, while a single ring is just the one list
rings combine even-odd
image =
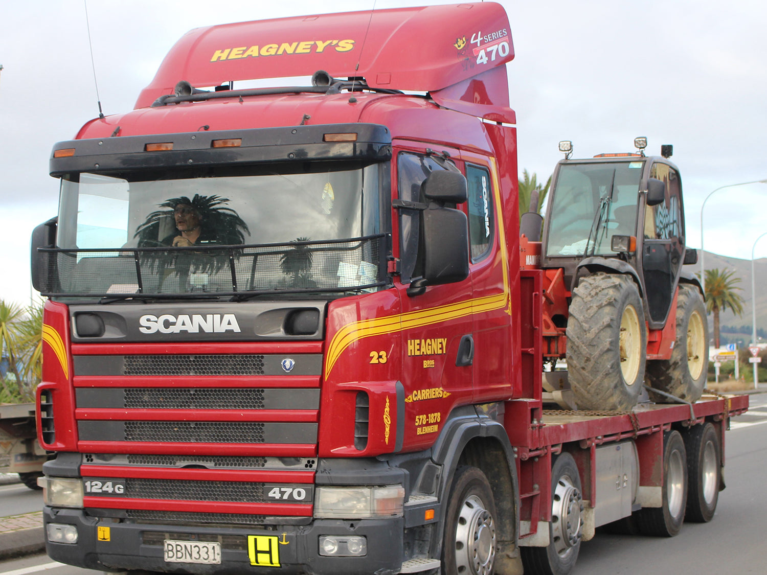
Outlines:
[{"label": "grey hillside behind the palm tree at the right edge", "polygon": [[[700,251],[698,251],[698,263],[696,265],[686,265],[685,270],[692,270],[696,274],[700,272]],[[748,326],[743,335],[722,333],[724,343],[735,343],[736,340],[743,340],[746,335],[749,340],[743,340],[743,343],[750,343],[752,326],[752,294],[751,294],[751,260],[741,260],[738,258],[728,258],[724,255],[712,254],[706,251],[706,269],[719,268],[723,270],[735,271],[735,276],[740,278],[737,284],[741,291],[739,294],[743,298],[743,314],[736,317],[732,311],[727,310],[720,315],[720,321],[723,327]],[[756,287],[756,327],[767,330],[767,258],[758,258],[754,261],[755,287]],[[709,315],[709,330],[713,326],[713,317]]]}]

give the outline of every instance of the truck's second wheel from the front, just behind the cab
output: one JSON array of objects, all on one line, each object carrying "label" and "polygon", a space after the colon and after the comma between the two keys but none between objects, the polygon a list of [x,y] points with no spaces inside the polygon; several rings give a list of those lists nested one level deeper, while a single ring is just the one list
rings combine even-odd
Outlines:
[{"label": "truck's second wheel from the front, just behind the cab", "polygon": [[578,465],[569,453],[551,468],[551,521],[547,547],[520,547],[525,573],[568,575],[575,567],[583,533],[583,497]]}]

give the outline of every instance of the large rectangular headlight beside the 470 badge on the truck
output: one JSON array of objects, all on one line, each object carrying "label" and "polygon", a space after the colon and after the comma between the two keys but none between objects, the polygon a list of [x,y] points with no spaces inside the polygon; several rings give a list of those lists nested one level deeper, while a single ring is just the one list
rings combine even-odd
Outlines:
[{"label": "large rectangular headlight beside the 470 badge on the truck", "polygon": [[326,519],[402,517],[405,489],[384,487],[318,487],[314,517]]}]

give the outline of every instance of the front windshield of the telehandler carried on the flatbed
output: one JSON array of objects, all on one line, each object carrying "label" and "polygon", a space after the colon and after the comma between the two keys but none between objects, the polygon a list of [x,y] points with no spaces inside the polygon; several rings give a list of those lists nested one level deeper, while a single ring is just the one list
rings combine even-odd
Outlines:
[{"label": "front windshield of the telehandler carried on the flatbed", "polygon": [[[637,234],[637,205],[644,161],[561,164],[551,210],[546,255],[611,255],[613,235]],[[598,226],[597,213],[604,209]],[[593,229],[592,229],[593,228]],[[591,235],[591,242],[589,242]]]}]

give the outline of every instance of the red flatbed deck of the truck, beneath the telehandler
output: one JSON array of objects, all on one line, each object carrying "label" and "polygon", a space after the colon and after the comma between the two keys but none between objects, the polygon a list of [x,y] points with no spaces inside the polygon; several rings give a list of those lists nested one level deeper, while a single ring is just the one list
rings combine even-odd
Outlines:
[{"label": "red flatbed deck of the truck, beneath the telehandler", "polygon": [[[633,441],[637,445],[639,475],[632,503],[639,507],[643,502],[646,507],[650,504],[660,507],[663,469],[659,464],[662,462],[663,434],[711,422],[721,446],[723,474],[725,431],[729,429],[729,419],[748,408],[748,396],[721,395],[704,395],[699,402],[688,405],[640,404],[630,412],[545,410],[535,401],[507,403],[505,419],[509,424],[515,422],[507,425],[507,429],[511,430],[509,440],[517,455],[522,501],[520,518],[529,522],[528,531],[520,534],[520,544],[525,545],[527,538],[535,540],[541,522],[551,521],[551,492],[536,486],[548,485],[551,481],[553,456],[570,452],[578,462],[586,501],[583,539],[589,540],[594,537],[594,509],[600,498],[614,498],[622,488],[616,482],[622,473],[615,473],[613,468],[597,467],[597,449],[625,440]],[[520,421],[529,424],[519,426]],[[597,485],[607,485],[607,492],[597,489]],[[719,487],[724,487],[723,475]]]}]

